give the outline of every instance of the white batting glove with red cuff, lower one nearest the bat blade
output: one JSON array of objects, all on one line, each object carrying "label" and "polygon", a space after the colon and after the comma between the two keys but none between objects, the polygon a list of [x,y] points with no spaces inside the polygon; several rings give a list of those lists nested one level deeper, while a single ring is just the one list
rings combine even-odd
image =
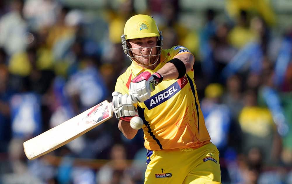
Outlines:
[{"label": "white batting glove with red cuff, lower one nearest the bat blade", "polygon": [[123,121],[130,121],[132,117],[138,116],[138,110],[128,94],[122,95],[119,92],[113,92],[112,108],[116,118]]}]

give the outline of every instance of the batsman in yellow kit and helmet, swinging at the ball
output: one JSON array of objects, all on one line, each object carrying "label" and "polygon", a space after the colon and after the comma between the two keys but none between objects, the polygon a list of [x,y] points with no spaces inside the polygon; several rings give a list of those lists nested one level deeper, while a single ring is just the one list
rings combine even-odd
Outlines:
[{"label": "batsman in yellow kit and helmet, swinging at the ball", "polygon": [[128,19],[121,42],[132,64],[117,79],[114,114],[128,139],[138,131],[130,119],[143,120],[145,183],[220,183],[219,152],[201,112],[192,53],[183,46],[162,49],[162,32],[148,15]]}]

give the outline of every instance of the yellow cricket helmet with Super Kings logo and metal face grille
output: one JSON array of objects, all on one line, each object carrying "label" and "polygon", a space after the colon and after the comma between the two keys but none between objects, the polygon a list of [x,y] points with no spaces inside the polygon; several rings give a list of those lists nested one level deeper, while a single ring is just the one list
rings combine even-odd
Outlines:
[{"label": "yellow cricket helmet with Super Kings logo and metal face grille", "polygon": [[156,55],[149,55],[150,56],[157,56],[157,60],[154,63],[151,63],[149,60],[149,65],[154,65],[159,60],[159,56],[161,53],[162,45],[163,45],[163,37],[162,32],[158,30],[157,24],[153,17],[149,15],[134,15],[129,18],[124,27],[124,34],[121,36],[122,47],[124,53],[130,58],[130,60],[134,61],[134,58],[143,57],[142,56],[131,56],[130,51],[133,48],[128,48],[128,44],[126,40],[129,39],[136,39],[136,38],[147,38],[147,37],[157,37],[157,46],[152,47],[157,48]]}]

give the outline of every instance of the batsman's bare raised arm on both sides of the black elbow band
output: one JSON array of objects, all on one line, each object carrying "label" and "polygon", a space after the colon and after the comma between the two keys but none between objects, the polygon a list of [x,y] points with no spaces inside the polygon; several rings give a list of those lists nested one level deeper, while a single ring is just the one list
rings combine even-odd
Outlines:
[{"label": "batsman's bare raised arm on both sides of the black elbow band", "polygon": [[[183,61],[186,72],[189,72],[194,65],[194,56],[190,53],[176,55],[173,58],[178,58]],[[166,63],[157,73],[163,76],[163,80],[178,78],[178,70],[173,63]]]}]

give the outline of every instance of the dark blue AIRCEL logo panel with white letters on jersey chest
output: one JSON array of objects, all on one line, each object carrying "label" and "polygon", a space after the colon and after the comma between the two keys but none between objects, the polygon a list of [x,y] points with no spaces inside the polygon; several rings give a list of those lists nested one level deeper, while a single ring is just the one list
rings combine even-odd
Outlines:
[{"label": "dark blue AIRCEL logo panel with white letters on jersey chest", "polygon": [[160,105],[161,103],[174,96],[176,93],[178,93],[178,91],[180,91],[180,89],[181,88],[178,82],[175,82],[165,90],[160,91],[159,93],[156,93],[150,97],[150,99],[146,100],[144,103],[149,110],[153,109],[157,105]]}]

